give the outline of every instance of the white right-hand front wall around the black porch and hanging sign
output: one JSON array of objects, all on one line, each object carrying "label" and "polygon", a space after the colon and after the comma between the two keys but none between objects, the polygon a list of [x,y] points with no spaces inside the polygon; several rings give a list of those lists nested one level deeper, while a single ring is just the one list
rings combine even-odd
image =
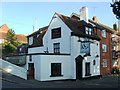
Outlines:
[{"label": "white right-hand front wall around the black porch and hanging sign", "polygon": [[[84,38],[81,38],[81,40],[84,40]],[[91,40],[93,41],[93,40]],[[98,46],[97,46],[98,43]],[[84,53],[80,53],[80,44],[81,42],[78,42],[78,37],[72,36],[71,37],[71,61],[74,62],[74,66],[72,67],[72,69],[74,68],[74,78],[76,78],[76,62],[75,62],[75,58],[79,55],[83,56]],[[99,49],[99,41],[96,41],[95,43],[91,43],[90,45],[90,49],[91,49],[91,56],[87,57],[87,60],[83,60],[83,78],[85,78],[85,63],[86,62],[90,62],[91,65],[91,76],[95,76],[95,75],[100,75],[100,57],[95,58],[95,55],[98,54],[100,56],[100,49]],[[93,65],[93,60],[96,60],[96,65]]]}]

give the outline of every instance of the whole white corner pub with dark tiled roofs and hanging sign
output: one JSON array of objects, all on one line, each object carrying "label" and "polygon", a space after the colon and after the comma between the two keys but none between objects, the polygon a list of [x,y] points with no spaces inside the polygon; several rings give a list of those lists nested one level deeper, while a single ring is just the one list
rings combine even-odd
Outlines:
[{"label": "whole white corner pub with dark tiled roofs and hanging sign", "polygon": [[100,75],[100,38],[93,26],[55,13],[50,24],[28,36],[24,68],[40,81]]}]

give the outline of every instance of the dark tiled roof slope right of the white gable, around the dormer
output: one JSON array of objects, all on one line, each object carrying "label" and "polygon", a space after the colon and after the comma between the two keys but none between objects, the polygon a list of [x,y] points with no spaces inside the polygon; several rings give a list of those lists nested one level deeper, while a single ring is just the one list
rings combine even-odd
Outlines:
[{"label": "dark tiled roof slope right of the white gable, around the dormer", "polygon": [[62,21],[72,30],[72,35],[79,36],[79,37],[88,37],[91,39],[100,40],[100,38],[97,35],[87,35],[85,34],[85,26],[93,28],[93,26],[90,23],[86,23],[85,21],[78,21],[74,20],[68,16],[64,16],[61,14],[56,13]]}]

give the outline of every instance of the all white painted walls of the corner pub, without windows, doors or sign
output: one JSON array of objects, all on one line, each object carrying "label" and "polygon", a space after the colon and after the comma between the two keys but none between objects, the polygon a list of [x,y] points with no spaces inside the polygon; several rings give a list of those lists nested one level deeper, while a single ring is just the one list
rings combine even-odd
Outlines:
[{"label": "all white painted walls of the corner pub, without windows, doors or sign", "polygon": [[[51,39],[51,29],[61,27],[61,38]],[[81,40],[85,40],[81,38]],[[91,40],[93,41],[93,40]],[[35,68],[35,79],[40,81],[47,80],[59,80],[59,79],[76,79],[76,62],[75,58],[79,55],[84,55],[80,53],[80,45],[78,42],[78,37],[71,36],[71,30],[66,26],[66,24],[58,17],[54,18],[49,27],[48,31],[43,37],[43,47],[29,48],[28,53],[43,53],[48,51],[53,53],[53,43],[60,42],[60,53],[70,54],[70,56],[64,55],[32,55],[32,62],[29,61],[29,56],[27,56],[27,63],[34,63]],[[98,43],[98,46],[96,46]],[[100,55],[99,42],[92,43],[91,56],[88,60],[83,60],[83,78],[85,78],[85,63],[91,63],[91,76],[100,75],[100,58],[95,58],[95,54]],[[96,59],[96,65],[93,66],[93,59]],[[51,63],[62,63],[62,74],[60,77],[50,77],[51,75]],[[28,66],[25,66],[28,69]]]}]

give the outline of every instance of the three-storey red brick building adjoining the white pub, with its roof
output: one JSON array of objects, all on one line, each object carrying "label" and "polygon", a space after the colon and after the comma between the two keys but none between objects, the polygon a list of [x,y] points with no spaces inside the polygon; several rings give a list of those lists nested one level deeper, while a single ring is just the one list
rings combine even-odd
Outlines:
[{"label": "three-storey red brick building adjoining the white pub, with its roof", "polygon": [[112,34],[114,30],[106,25],[97,22],[96,16],[90,23],[95,25],[94,31],[100,40],[100,72],[101,75],[108,75],[112,70]]}]

